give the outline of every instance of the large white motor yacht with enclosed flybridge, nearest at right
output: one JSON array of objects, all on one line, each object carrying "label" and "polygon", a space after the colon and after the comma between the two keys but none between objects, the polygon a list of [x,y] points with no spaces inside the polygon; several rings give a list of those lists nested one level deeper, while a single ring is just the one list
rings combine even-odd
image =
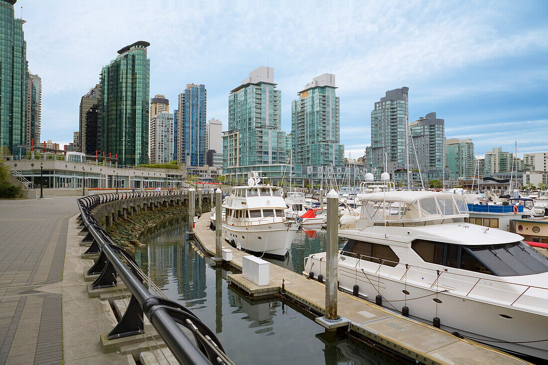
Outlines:
[{"label": "large white motor yacht with enclosed flybridge, nearest at right", "polygon": [[[356,229],[338,256],[340,288],[416,320],[510,352],[548,358],[548,258],[523,237],[466,223],[463,196],[360,195]],[[323,261],[323,262],[322,262]],[[326,254],[305,259],[326,273]]]}]

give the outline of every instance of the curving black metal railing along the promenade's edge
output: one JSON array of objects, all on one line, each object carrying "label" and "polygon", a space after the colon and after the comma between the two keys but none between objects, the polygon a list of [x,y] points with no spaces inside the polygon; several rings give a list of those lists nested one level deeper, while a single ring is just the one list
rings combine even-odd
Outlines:
[{"label": "curving black metal railing along the promenade's edge", "polygon": [[[88,275],[99,275],[92,283],[92,289],[115,287],[119,277],[132,294],[124,315],[109,333],[109,339],[144,334],[143,316],[146,315],[181,364],[233,364],[215,334],[186,307],[162,296],[162,291],[140,270],[133,256],[114,244],[91,213],[99,204],[119,199],[186,193],[119,192],[79,198],[82,232],[87,232],[82,242],[90,243],[85,253],[99,254]],[[190,331],[195,343],[185,335],[181,326]]]}]

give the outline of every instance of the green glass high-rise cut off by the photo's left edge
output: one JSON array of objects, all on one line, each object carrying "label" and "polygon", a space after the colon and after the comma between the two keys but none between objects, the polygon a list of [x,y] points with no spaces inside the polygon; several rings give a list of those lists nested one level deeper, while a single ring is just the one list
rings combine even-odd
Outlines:
[{"label": "green glass high-rise cut off by the photo's left edge", "polygon": [[[26,142],[27,45],[16,0],[0,0],[0,147],[12,153]],[[4,151],[2,151],[4,152]]]}]

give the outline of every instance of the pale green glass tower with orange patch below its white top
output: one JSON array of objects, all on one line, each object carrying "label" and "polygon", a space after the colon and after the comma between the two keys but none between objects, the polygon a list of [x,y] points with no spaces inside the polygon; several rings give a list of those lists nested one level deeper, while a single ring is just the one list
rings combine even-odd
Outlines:
[{"label": "pale green glass tower with orange patch below its white top", "polygon": [[291,104],[293,168],[303,174],[310,167],[344,166],[335,89],[335,75],[324,73],[307,83]]}]

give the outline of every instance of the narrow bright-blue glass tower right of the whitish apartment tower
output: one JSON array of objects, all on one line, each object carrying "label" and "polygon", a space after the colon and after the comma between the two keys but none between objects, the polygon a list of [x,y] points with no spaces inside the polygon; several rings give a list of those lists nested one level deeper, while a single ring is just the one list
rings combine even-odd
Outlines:
[{"label": "narrow bright-blue glass tower right of the whitish apartment tower", "polygon": [[206,85],[187,84],[177,113],[177,161],[186,166],[206,164],[206,109]]}]

